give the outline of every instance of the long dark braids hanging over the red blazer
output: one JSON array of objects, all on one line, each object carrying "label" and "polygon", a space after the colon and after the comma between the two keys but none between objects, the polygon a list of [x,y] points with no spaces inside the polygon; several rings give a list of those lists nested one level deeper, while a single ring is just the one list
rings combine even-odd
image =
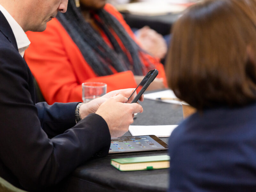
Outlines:
[{"label": "long dark braids hanging over the red blazer", "polygon": [[[104,9],[98,10],[95,14],[97,14],[102,21],[95,19],[96,23],[108,36],[114,50],[110,48],[100,34],[84,20],[80,8],[76,7],[74,1],[68,1],[68,11],[64,14],[58,13],[57,19],[67,30],[68,34],[83,54],[86,62],[98,76],[113,74],[112,70],[108,67],[109,65],[113,66],[117,72],[132,70],[134,75],[145,75],[149,69],[154,68],[150,62],[149,65],[151,66],[148,69],[144,67],[139,57],[139,52],[143,52],[143,50],[133,41],[115,17]],[[129,59],[127,54],[122,50],[116,38],[110,32],[110,28],[115,31],[126,50],[129,51],[132,60]]]}]

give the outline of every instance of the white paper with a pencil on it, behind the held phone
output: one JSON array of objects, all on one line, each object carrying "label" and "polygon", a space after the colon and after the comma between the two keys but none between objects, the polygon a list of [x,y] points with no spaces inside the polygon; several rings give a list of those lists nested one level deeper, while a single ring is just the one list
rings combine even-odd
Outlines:
[{"label": "white paper with a pencil on it, behind the held phone", "polygon": [[[176,95],[172,90],[159,91],[154,93],[144,94],[144,99],[158,100],[157,98],[174,98],[177,99]],[[177,105],[181,105],[181,101],[177,100],[159,100],[166,103],[173,103]]]}]

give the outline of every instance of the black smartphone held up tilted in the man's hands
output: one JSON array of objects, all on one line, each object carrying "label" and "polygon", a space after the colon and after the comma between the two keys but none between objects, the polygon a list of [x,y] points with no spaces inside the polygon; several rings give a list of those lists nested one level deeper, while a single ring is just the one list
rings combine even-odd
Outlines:
[{"label": "black smartphone held up tilted in the man's hands", "polygon": [[132,100],[131,103],[136,103],[141,95],[144,93],[144,91],[148,88],[148,85],[150,83],[152,83],[152,81],[154,81],[154,79],[156,78],[156,76],[158,75],[158,71],[156,69],[150,70],[147,75],[142,79],[142,81],[140,82],[140,84],[137,86],[137,88],[134,90],[134,92],[132,92],[131,96],[128,98],[128,101],[130,100],[130,98],[132,97],[132,95],[134,93],[136,93],[136,90],[140,87],[140,92],[136,95],[136,97]]}]

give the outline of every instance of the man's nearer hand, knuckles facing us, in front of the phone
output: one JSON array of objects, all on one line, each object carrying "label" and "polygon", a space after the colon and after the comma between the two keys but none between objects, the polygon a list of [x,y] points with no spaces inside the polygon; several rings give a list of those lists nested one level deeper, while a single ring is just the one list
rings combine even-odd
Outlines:
[{"label": "man's nearer hand, knuckles facing us, in front of the phone", "polygon": [[108,124],[111,138],[122,136],[133,123],[133,114],[142,113],[143,108],[138,103],[125,103],[127,97],[116,95],[100,105],[96,114]]}]

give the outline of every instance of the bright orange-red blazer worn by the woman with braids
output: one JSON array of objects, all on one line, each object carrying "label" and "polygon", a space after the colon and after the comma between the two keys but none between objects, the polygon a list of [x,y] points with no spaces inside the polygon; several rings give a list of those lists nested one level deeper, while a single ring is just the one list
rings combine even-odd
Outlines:
[{"label": "bright orange-red blazer worn by the woman with braids", "polygon": [[[126,24],[122,15],[110,4],[106,4],[104,9],[116,17],[127,33],[135,40],[131,28]],[[132,71],[118,73],[114,68],[111,68],[113,75],[97,76],[57,19],[48,22],[44,32],[29,31],[27,36],[31,44],[26,50],[24,58],[48,104],[82,101],[81,84],[84,82],[106,83],[108,92],[137,86]],[[101,36],[112,47],[103,31],[101,31]],[[116,39],[122,49],[125,50],[120,39]],[[145,53],[138,54],[145,55]],[[167,85],[164,67],[159,59],[148,54],[145,56],[159,71],[157,77],[164,78],[164,83]],[[148,65],[146,61],[142,60],[142,62],[145,66]]]}]

